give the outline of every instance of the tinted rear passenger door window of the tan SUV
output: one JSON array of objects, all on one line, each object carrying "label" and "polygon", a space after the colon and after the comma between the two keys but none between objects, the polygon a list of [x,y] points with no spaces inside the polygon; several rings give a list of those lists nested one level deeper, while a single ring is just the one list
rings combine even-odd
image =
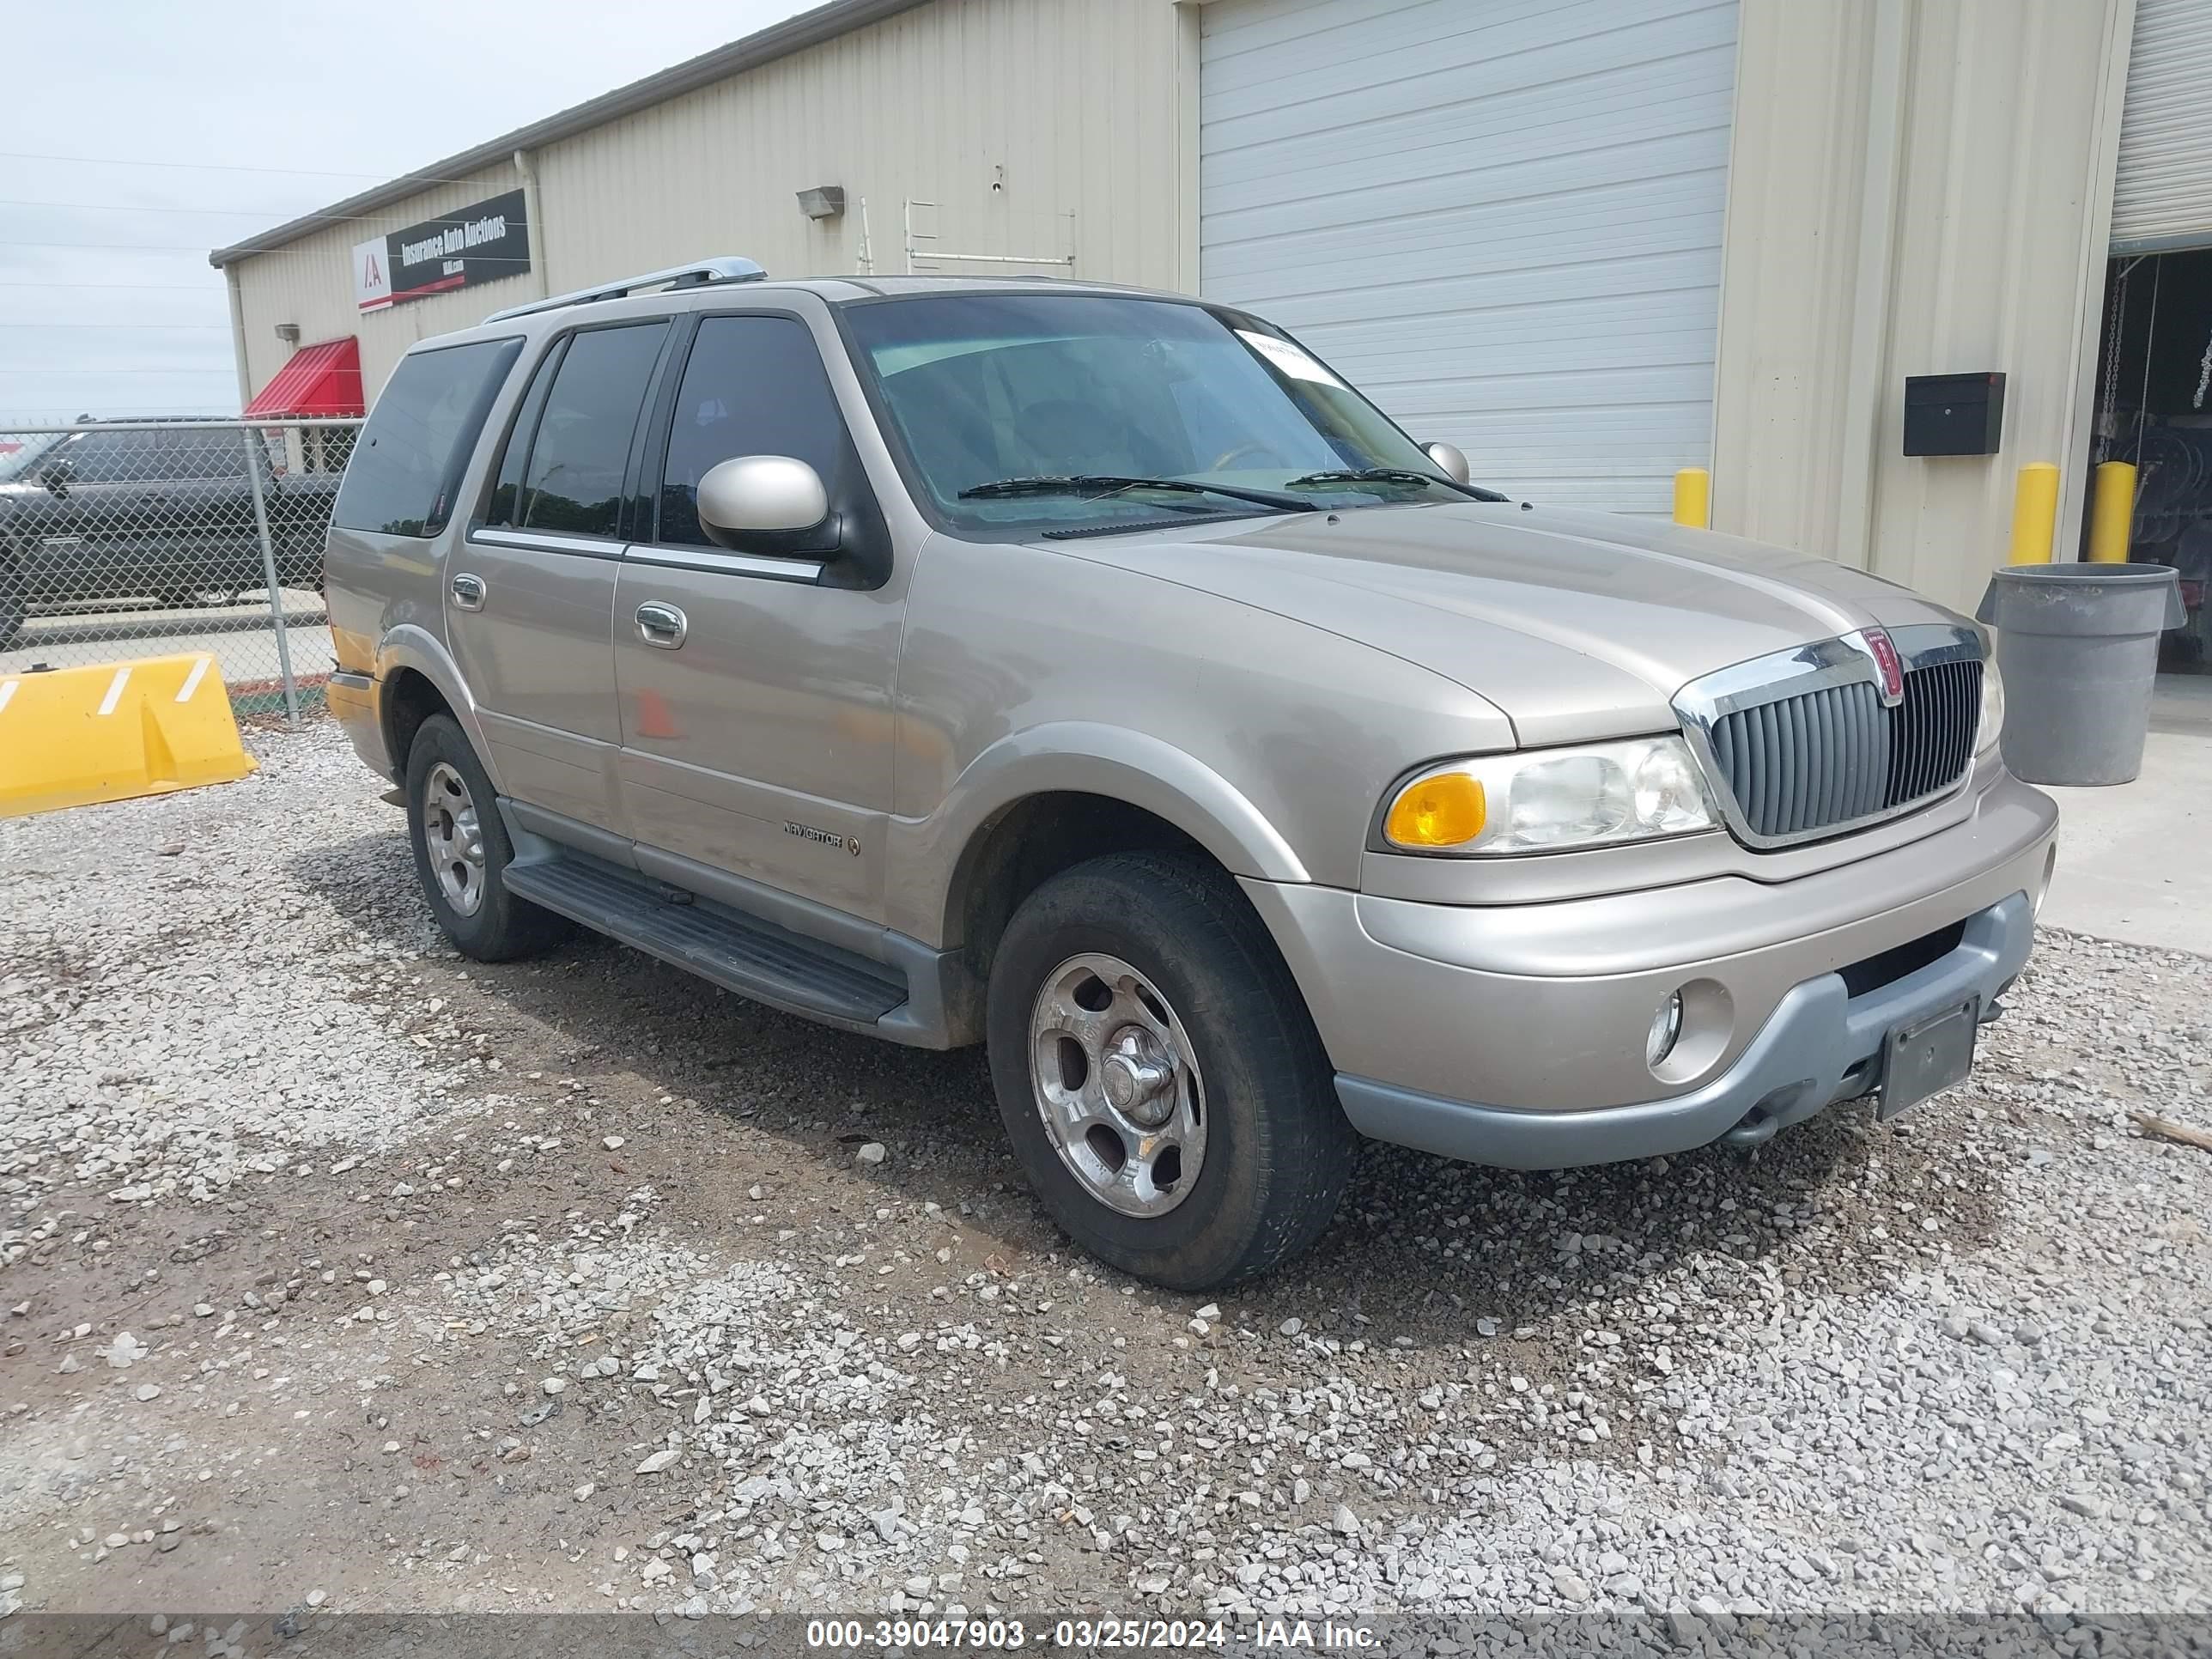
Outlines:
[{"label": "tinted rear passenger door window of the tan SUV", "polygon": [[622,533],[622,476],[666,334],[666,323],[641,323],[584,330],[568,341],[538,416],[511,522],[571,535]]}]

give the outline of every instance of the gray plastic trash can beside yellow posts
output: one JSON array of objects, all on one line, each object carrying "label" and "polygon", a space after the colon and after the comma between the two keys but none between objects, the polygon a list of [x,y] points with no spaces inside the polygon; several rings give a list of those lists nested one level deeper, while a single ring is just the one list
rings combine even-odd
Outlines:
[{"label": "gray plastic trash can beside yellow posts", "polygon": [[1975,617],[1997,630],[2004,763],[2028,783],[2130,783],[2143,770],[2170,564],[2006,564]]}]

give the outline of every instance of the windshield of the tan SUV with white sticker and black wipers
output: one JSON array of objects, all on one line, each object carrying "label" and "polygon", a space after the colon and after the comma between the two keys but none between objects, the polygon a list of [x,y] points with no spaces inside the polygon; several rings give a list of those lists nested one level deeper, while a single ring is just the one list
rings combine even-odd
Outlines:
[{"label": "windshield of the tan SUV with white sticker and black wipers", "polygon": [[1108,294],[931,294],[849,305],[845,321],[905,445],[909,482],[964,529],[1471,493],[1305,349],[1237,312]]}]

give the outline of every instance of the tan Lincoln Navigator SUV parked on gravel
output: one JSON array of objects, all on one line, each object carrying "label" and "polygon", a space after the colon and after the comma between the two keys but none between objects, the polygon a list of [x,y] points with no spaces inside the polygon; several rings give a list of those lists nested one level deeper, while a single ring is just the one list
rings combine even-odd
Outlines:
[{"label": "tan Lincoln Navigator SUV parked on gravel", "polygon": [[584,922],[987,1042],[1053,1219],[1177,1287],[1356,1135],[1555,1168],[1949,1088],[2055,810],[1980,630],[1464,482],[1274,325],[708,261],[400,363],[330,703],[469,956]]}]

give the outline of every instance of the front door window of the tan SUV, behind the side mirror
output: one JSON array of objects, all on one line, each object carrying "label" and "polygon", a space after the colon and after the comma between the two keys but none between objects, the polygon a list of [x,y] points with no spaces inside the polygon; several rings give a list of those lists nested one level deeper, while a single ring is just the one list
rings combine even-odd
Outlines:
[{"label": "front door window of the tan SUV, behind the side mirror", "polygon": [[708,316],[677,389],[661,476],[661,542],[710,546],[699,480],[730,456],[792,456],[832,495],[849,440],[814,336],[790,316]]}]

